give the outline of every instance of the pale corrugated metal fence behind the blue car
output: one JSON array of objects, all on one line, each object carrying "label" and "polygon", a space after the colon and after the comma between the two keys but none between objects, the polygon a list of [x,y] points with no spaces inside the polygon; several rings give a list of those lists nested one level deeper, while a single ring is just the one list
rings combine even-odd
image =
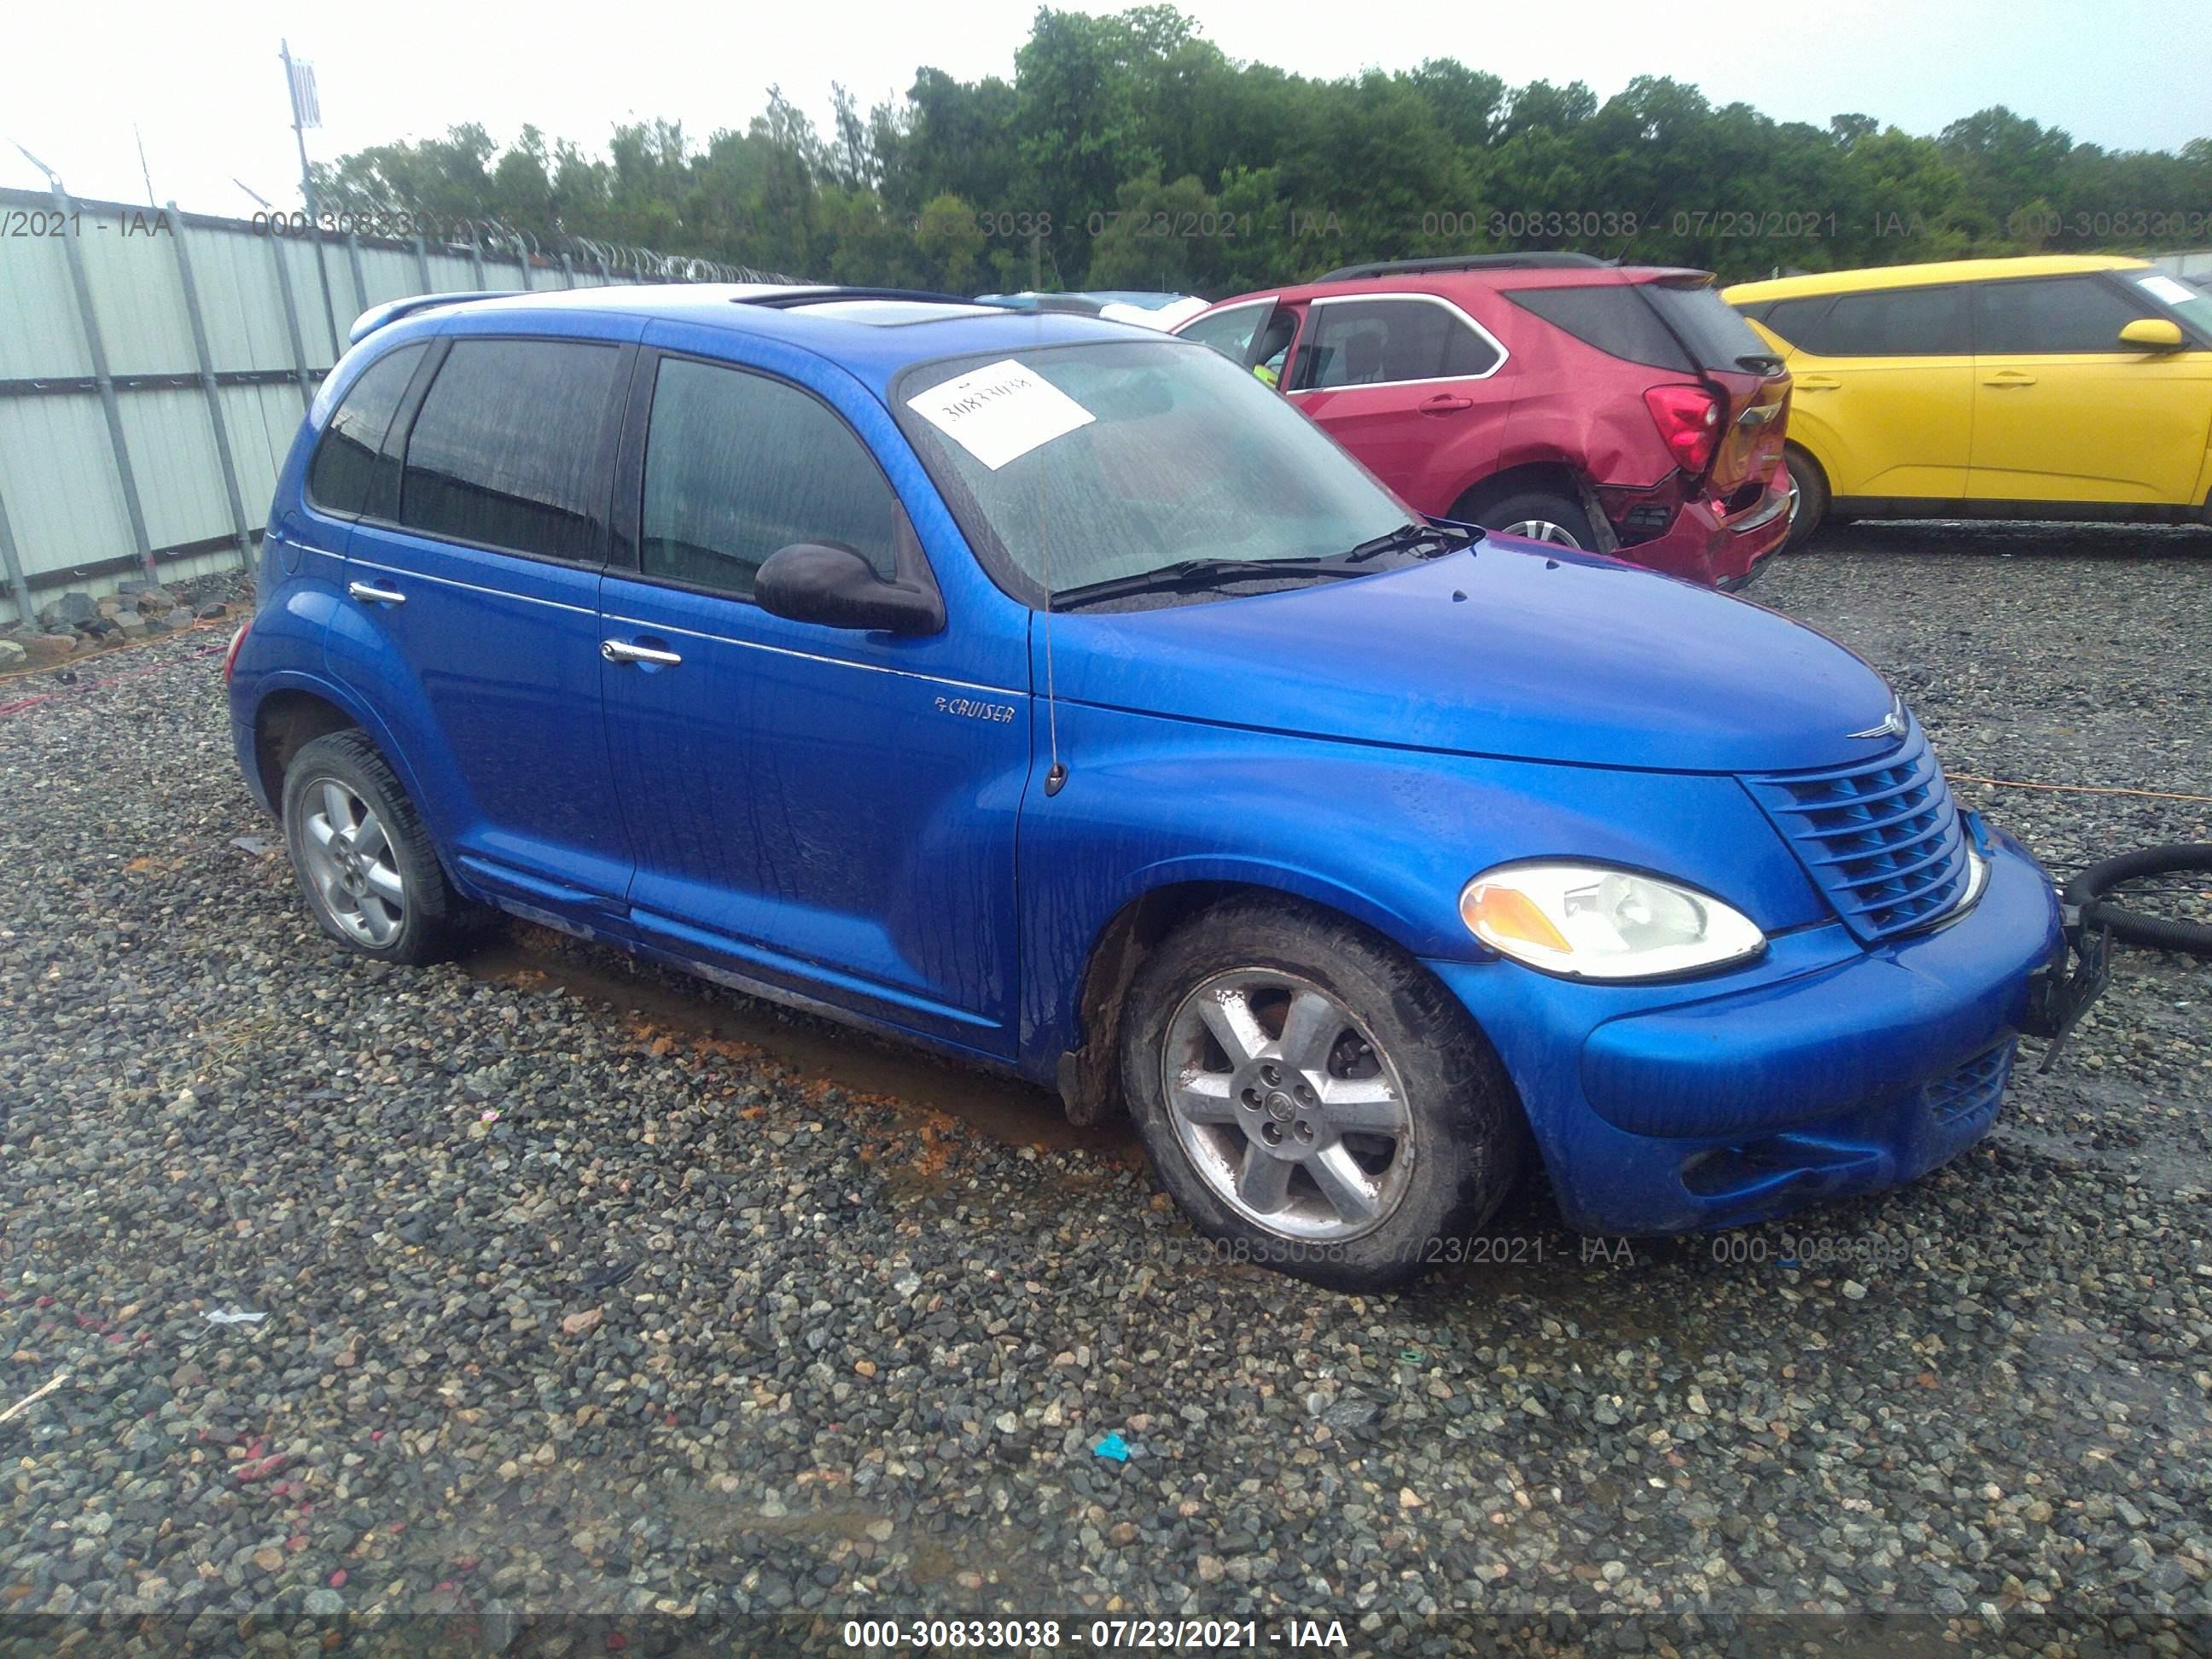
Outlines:
[{"label": "pale corrugated metal fence behind the blue car", "polygon": [[[42,190],[0,190],[0,210],[62,230],[0,237],[0,513],[33,611],[64,588],[113,588],[148,564],[161,580],[237,566],[261,535],[303,407],[372,305],[469,288],[787,281],[597,243],[571,248],[566,261],[524,257],[529,243],[498,230],[473,246],[345,234],[316,243],[246,219]],[[22,608],[13,571],[4,580],[0,624]]]}]

